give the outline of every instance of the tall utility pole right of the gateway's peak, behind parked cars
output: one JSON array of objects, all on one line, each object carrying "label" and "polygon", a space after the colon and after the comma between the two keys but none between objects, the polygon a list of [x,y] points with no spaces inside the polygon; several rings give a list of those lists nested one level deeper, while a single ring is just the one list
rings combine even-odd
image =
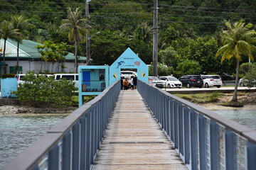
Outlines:
[{"label": "tall utility pole right of the gateway's peak, behind parked cars", "polygon": [[153,76],[158,76],[158,0],[154,0]]}]

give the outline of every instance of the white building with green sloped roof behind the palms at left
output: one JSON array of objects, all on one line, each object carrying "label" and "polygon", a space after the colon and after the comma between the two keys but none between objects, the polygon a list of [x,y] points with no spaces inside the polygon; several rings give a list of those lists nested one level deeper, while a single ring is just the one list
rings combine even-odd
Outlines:
[{"label": "white building with green sloped roof behind the palms at left", "polygon": [[[38,42],[31,40],[22,40],[19,45],[19,73],[26,74],[28,71],[39,72],[74,72],[75,56],[69,53],[65,60],[59,62],[43,62],[41,60],[41,54],[36,49],[36,45],[42,45]],[[0,74],[4,73],[4,40],[0,40]],[[17,42],[15,40],[8,39],[6,41],[5,52],[7,73],[14,73],[15,65],[17,62]],[[78,64],[85,65],[86,57],[78,57]]]}]

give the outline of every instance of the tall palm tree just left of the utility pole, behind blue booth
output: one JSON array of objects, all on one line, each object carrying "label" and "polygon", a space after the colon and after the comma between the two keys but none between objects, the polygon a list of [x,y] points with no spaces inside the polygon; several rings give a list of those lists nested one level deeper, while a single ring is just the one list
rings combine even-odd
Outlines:
[{"label": "tall palm tree just left of the utility pole, behind blue booth", "polygon": [[60,26],[61,30],[69,30],[68,40],[75,44],[75,73],[78,72],[78,45],[85,40],[87,32],[85,21],[87,18],[82,18],[80,8],[76,8],[75,11],[68,8],[68,18],[63,19],[63,25]]}]

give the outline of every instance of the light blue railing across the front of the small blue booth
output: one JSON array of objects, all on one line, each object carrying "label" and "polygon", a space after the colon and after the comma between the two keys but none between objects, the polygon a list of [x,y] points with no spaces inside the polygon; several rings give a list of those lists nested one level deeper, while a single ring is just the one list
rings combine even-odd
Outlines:
[{"label": "light blue railing across the front of the small blue booth", "polygon": [[82,80],[82,92],[98,92],[98,91],[104,91],[105,89],[106,89],[105,80],[104,81]]}]

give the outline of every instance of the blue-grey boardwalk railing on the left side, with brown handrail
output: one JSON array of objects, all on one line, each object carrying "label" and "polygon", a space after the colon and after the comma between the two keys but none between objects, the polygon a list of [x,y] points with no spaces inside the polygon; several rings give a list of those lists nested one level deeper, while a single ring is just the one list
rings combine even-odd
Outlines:
[{"label": "blue-grey boardwalk railing on the left side, with brown handrail", "polygon": [[68,115],[2,170],[91,169],[119,91],[117,81]]}]

